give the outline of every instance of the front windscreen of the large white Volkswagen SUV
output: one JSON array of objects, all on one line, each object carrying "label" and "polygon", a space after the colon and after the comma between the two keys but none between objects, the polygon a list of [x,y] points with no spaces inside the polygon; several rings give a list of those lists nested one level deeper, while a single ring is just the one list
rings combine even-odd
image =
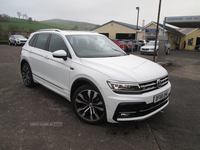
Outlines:
[{"label": "front windscreen of the large white Volkswagen SUV", "polygon": [[113,41],[101,35],[66,35],[78,57],[115,57],[126,53]]}]

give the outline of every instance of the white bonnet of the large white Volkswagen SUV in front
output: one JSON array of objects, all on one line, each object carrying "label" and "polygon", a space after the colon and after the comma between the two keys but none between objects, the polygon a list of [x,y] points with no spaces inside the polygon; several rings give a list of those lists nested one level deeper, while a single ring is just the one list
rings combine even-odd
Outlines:
[{"label": "white bonnet of the large white Volkswagen SUV in front", "polygon": [[134,55],[81,58],[81,61],[85,66],[102,72],[111,80],[117,81],[146,82],[168,74],[160,65]]}]

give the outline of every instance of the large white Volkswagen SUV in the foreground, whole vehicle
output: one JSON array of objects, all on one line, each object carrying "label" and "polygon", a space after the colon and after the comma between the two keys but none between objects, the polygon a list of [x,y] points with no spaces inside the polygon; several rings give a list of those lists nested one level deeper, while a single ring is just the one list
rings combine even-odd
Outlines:
[{"label": "large white Volkswagen SUV in the foreground, whole vehicle", "polygon": [[96,32],[32,33],[20,68],[27,87],[39,83],[62,95],[88,124],[143,120],[169,104],[171,84],[163,67],[126,54]]}]

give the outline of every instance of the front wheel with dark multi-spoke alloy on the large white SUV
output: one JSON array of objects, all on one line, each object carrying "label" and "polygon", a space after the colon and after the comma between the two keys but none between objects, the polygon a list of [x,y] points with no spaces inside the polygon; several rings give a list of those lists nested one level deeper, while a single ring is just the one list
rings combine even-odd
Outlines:
[{"label": "front wheel with dark multi-spoke alloy on the large white SUV", "polygon": [[88,124],[99,124],[106,120],[106,109],[100,92],[90,86],[79,87],[72,97],[76,116]]}]

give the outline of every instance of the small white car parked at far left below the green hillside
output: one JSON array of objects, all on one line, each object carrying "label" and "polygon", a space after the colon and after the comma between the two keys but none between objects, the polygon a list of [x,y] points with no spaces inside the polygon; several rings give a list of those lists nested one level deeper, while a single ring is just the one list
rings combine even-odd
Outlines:
[{"label": "small white car parked at far left below the green hillside", "polygon": [[9,41],[8,41],[8,44],[9,45],[23,45],[25,44],[27,41],[27,38],[25,38],[23,35],[11,35],[9,37]]}]

